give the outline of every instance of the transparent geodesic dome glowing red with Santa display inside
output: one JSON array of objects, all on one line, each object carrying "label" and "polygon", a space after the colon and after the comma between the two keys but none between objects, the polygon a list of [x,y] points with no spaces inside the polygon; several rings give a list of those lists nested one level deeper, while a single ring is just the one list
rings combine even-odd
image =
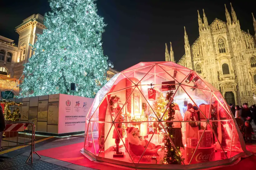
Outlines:
[{"label": "transparent geodesic dome glowing red with Santa display inside", "polygon": [[[170,102],[165,98],[171,91],[182,121],[168,120]],[[198,115],[198,126],[193,128],[189,103]],[[168,122],[181,128],[182,137],[176,131],[168,134]],[[174,62],[140,62],[116,74],[96,94],[85,134],[84,152],[91,158],[134,168],[206,168],[232,163],[248,152],[219,90]],[[135,139],[139,139],[137,144]],[[171,160],[166,154],[168,143],[175,149],[179,165],[166,161]],[[118,148],[122,154],[116,153]]]}]

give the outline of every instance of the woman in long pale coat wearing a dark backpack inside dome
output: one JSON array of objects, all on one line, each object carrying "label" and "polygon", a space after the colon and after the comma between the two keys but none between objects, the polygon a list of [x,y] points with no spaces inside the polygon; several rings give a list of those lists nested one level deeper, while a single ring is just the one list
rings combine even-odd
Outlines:
[{"label": "woman in long pale coat wearing a dark backpack inside dome", "polygon": [[[187,111],[185,112],[184,121],[190,121],[191,112],[194,112],[193,105],[191,103],[188,103],[187,105]],[[186,142],[188,142],[188,138],[193,137],[198,139],[198,126],[197,127],[191,127],[189,122],[186,122],[186,131],[185,131],[185,139]]]}]

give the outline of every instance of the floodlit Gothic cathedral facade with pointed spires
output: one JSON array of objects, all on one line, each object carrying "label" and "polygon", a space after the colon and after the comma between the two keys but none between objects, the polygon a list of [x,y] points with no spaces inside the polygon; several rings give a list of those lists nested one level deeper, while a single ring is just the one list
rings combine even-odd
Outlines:
[{"label": "floodlit Gothic cathedral facade with pointed spires", "polygon": [[[225,15],[226,22],[216,18],[208,24],[204,9],[203,20],[198,11],[199,37],[190,46],[185,30],[185,54],[177,63],[198,72],[227,103],[252,105],[256,103],[256,20],[253,16],[251,35],[240,29],[232,5],[232,20],[226,5]],[[172,47],[169,53],[165,46],[165,60],[175,62]]]}]

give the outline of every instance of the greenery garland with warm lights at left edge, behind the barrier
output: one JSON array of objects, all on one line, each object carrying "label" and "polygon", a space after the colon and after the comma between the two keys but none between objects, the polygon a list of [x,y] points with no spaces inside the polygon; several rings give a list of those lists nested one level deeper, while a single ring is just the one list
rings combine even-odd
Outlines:
[{"label": "greenery garland with warm lights at left edge, behind the barrier", "polygon": [[6,121],[18,121],[19,120],[19,108],[13,110],[11,113],[10,106],[21,106],[22,103],[20,102],[13,102],[13,101],[7,101],[7,100],[0,100],[1,104],[4,104],[4,118]]}]

